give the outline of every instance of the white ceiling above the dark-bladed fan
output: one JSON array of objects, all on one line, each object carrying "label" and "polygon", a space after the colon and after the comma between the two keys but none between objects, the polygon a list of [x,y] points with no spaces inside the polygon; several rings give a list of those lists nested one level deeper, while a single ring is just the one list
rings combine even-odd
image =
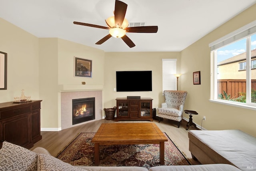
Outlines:
[{"label": "white ceiling above the dark-bladed fan", "polygon": [[126,19],[158,26],[157,33],[126,33],[136,45],[120,38],[98,40],[108,30],[73,24],[74,21],[106,26],[115,0],[0,0],[0,17],[38,38],[62,38],[105,52],[181,51],[256,0],[121,0],[128,4]]}]

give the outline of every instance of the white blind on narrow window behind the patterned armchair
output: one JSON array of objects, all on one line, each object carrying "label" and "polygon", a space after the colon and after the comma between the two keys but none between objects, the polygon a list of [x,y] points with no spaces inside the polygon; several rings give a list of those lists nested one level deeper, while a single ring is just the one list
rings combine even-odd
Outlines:
[{"label": "white blind on narrow window behind the patterned armchair", "polygon": [[163,91],[176,90],[176,61],[177,59],[162,59]]}]

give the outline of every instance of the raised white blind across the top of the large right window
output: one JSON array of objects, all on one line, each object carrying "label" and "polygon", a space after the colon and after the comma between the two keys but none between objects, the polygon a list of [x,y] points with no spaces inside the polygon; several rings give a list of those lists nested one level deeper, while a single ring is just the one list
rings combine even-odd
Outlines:
[{"label": "raised white blind across the top of the large right window", "polygon": [[211,51],[216,50],[218,48],[221,48],[223,46],[231,44],[232,42],[235,42],[237,40],[240,40],[242,38],[245,38],[245,37],[250,36],[255,33],[256,33],[256,20],[254,22],[251,22],[251,23],[247,24],[246,26],[210,43],[209,47],[211,48]]}]

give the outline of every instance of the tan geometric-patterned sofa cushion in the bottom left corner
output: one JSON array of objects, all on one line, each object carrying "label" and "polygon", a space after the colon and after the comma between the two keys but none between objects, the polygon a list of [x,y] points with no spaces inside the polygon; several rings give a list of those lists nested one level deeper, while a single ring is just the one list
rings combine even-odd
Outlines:
[{"label": "tan geometric-patterned sofa cushion in the bottom left corner", "polygon": [[3,142],[0,149],[0,170],[37,170],[37,154],[19,145]]}]

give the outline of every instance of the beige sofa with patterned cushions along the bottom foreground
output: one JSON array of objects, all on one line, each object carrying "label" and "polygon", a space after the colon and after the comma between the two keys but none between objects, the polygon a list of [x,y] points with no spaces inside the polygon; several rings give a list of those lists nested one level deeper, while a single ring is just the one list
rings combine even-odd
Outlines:
[{"label": "beige sofa with patterned cushions along the bottom foreground", "polygon": [[[3,142],[0,149],[0,171],[148,171],[144,167],[72,166],[37,147],[33,151]],[[232,165],[155,166],[150,171],[240,171]]]}]

